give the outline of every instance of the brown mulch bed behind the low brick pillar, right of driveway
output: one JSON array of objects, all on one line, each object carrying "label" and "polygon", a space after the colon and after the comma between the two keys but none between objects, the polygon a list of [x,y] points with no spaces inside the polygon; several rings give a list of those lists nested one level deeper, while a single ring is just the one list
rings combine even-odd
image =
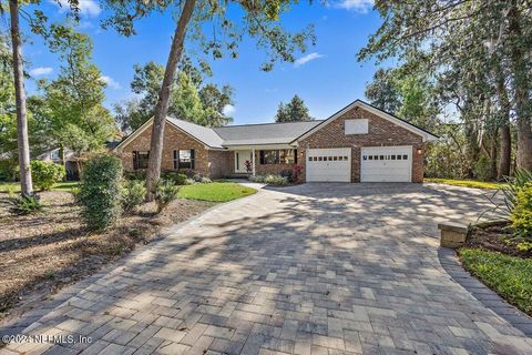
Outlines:
[{"label": "brown mulch bed behind the low brick pillar, right of driveway", "polygon": [[532,257],[532,251],[520,251],[518,244],[522,239],[514,237],[510,222],[485,227],[477,227],[468,236],[466,247],[480,247],[492,252],[519,257]]}]

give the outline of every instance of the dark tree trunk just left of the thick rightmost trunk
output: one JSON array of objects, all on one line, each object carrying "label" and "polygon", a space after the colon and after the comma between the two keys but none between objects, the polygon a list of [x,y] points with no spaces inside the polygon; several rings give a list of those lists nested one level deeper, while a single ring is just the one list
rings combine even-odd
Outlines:
[{"label": "dark tree trunk just left of the thick rightmost trunk", "polygon": [[512,135],[510,133],[510,99],[508,98],[507,85],[504,84],[504,73],[502,71],[500,59],[495,63],[497,95],[501,108],[500,141],[501,150],[499,152],[499,169],[497,180],[502,180],[510,175],[510,165],[512,160]]}]

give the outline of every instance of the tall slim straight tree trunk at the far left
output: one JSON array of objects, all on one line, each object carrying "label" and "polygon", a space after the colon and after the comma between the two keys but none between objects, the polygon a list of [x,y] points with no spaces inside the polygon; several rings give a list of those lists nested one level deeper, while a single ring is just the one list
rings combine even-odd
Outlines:
[{"label": "tall slim straight tree trunk at the far left", "polygon": [[13,78],[17,103],[17,142],[19,149],[20,190],[22,195],[31,195],[33,185],[30,171],[30,142],[28,140],[28,115],[25,112],[24,72],[22,69],[22,43],[19,30],[18,0],[9,0],[11,17],[11,41],[13,45]]}]

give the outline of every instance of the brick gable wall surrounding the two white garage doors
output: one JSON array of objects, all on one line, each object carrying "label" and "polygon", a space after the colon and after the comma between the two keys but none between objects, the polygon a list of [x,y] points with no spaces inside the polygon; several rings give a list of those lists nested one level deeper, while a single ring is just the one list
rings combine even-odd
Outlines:
[{"label": "brick gable wall surrounding the two white garage doors", "polygon": [[[369,120],[368,134],[344,133],[344,121],[355,119]],[[361,146],[393,146],[412,145],[412,182],[423,181],[424,143],[421,136],[391,123],[361,108],[354,108],[334,120],[305,140],[299,141],[298,163],[301,165],[301,181],[305,181],[306,156],[305,150],[311,148],[351,148],[351,182],[360,181],[360,148]],[[418,154],[418,149],[421,154]]]}]

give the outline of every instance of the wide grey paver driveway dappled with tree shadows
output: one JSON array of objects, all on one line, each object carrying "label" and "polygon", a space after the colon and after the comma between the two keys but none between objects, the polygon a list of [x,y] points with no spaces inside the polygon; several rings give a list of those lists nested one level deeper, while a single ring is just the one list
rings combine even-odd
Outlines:
[{"label": "wide grey paver driveway dappled with tree shadows", "polygon": [[487,192],[305,184],[218,206],[47,313],[25,333],[66,354],[531,354],[532,341],[440,265],[436,224]]}]

